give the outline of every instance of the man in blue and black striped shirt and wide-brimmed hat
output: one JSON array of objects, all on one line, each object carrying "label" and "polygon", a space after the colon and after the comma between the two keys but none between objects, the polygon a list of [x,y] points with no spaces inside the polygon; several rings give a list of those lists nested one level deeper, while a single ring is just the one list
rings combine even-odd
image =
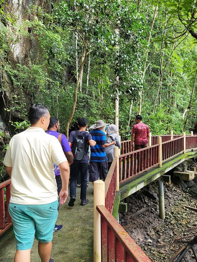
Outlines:
[{"label": "man in blue and black striped shirt and wide-brimmed hat", "polygon": [[90,134],[92,139],[96,142],[96,145],[91,147],[89,167],[90,182],[98,180],[98,177],[105,181],[105,178],[107,177],[108,162],[105,153],[105,147],[115,145],[116,142],[113,141],[111,143],[106,143],[106,135],[102,131],[106,125],[109,124],[104,123],[103,120],[98,120],[95,125],[90,127],[94,129],[90,132]]}]

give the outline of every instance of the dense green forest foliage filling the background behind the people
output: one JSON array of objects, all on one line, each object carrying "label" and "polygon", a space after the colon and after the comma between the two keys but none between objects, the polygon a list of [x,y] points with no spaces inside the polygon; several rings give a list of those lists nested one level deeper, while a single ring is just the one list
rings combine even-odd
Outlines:
[{"label": "dense green forest foliage filling the background behind the people", "polygon": [[[120,134],[122,139],[130,139],[129,108],[133,100],[133,121],[142,90],[143,121],[152,134],[169,134],[171,130],[182,133],[182,116],[190,100],[197,57],[194,37],[189,35],[184,40],[187,33],[195,32],[192,11],[196,4],[190,0],[184,3],[79,0],[75,8],[72,1],[59,1],[51,12],[31,5],[27,11],[31,19],[23,19],[20,24],[1,7],[0,91],[9,101],[5,103],[5,118],[10,133],[28,127],[27,112],[34,103],[48,106],[50,114],[58,116],[61,131],[65,131],[84,48],[89,52],[90,71],[86,57],[72,123],[82,116],[88,118],[89,125],[98,119],[113,123],[118,93]],[[0,4],[3,6],[2,0]],[[147,45],[156,4],[159,12]],[[30,49],[23,61],[13,63],[12,45],[21,39],[29,43]],[[192,127],[197,122],[195,110],[193,106],[188,119]],[[24,121],[19,123],[16,115]],[[189,121],[185,131],[191,129]]]}]

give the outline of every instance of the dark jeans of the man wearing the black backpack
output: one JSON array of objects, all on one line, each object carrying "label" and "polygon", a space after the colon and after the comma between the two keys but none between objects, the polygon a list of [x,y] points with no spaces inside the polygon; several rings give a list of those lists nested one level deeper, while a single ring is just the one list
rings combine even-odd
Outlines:
[{"label": "dark jeans of the man wearing the black backpack", "polygon": [[81,171],[81,200],[86,199],[88,163],[73,162],[70,166],[70,197],[76,197],[76,181]]}]

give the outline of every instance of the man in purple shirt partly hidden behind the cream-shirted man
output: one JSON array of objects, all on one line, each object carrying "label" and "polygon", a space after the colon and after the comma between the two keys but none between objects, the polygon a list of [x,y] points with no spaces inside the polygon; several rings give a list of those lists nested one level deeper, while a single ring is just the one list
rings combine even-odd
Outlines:
[{"label": "man in purple shirt partly hidden behind the cream-shirted man", "polygon": [[[56,117],[50,117],[50,123],[48,126],[48,131],[46,133],[55,136],[59,140],[59,143],[62,146],[62,150],[68,160],[68,164],[71,165],[73,162],[73,153],[71,151],[66,136],[64,134],[60,134],[59,129],[60,129],[59,120]],[[58,194],[59,194],[60,190],[62,189],[62,179],[60,176],[59,167],[55,163],[54,163],[54,173],[55,173],[55,179],[56,179]],[[58,232],[62,228],[63,225],[55,224],[54,232]]]}]

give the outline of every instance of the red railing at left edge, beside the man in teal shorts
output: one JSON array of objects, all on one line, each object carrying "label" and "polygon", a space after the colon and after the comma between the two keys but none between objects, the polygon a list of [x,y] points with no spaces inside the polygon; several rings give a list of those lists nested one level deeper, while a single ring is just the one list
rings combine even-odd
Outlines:
[{"label": "red railing at left edge, beside the man in teal shorts", "polygon": [[[12,225],[12,220],[8,212],[8,205],[10,202],[10,185],[11,179],[0,183],[0,235],[3,234]],[[6,203],[4,198],[4,188],[6,188]]]}]

